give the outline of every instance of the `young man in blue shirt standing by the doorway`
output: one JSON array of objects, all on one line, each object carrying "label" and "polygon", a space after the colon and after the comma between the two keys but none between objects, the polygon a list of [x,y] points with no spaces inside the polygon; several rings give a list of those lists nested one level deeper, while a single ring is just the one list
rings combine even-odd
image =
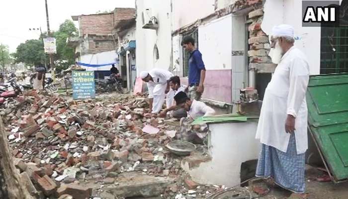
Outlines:
[{"label": "young man in blue shirt standing by the doorway", "polygon": [[181,46],[190,52],[188,60],[188,87],[186,91],[191,100],[200,100],[204,91],[205,67],[202,54],[195,47],[191,36],[182,39]]}]

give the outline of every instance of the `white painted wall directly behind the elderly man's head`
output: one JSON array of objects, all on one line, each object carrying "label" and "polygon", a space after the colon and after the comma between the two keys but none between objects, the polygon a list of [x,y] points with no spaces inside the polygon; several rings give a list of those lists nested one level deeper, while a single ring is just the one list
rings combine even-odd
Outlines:
[{"label": "white painted wall directly behind the elderly man's head", "polygon": [[295,41],[295,46],[307,55],[310,74],[320,74],[321,27],[302,27],[301,0],[265,1],[262,30],[267,35],[271,35],[272,27],[282,23],[292,25],[295,29],[295,36],[301,37],[301,39]]}]

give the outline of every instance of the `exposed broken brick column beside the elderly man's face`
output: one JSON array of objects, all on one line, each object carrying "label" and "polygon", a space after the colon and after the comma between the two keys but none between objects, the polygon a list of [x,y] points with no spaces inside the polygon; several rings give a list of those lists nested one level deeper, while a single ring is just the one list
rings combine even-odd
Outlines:
[{"label": "exposed broken brick column beside the elderly man's face", "polygon": [[249,68],[256,70],[257,73],[273,73],[276,65],[268,57],[270,50],[268,36],[261,30],[263,8],[251,11],[249,18],[253,21],[249,25]]}]

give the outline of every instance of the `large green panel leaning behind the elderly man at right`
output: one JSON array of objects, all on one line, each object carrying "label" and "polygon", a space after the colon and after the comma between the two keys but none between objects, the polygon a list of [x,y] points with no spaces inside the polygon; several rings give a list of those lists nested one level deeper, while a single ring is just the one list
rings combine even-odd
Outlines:
[{"label": "large green panel leaning behind the elderly man at right", "polygon": [[348,74],[311,76],[308,123],[334,182],[348,179]]}]

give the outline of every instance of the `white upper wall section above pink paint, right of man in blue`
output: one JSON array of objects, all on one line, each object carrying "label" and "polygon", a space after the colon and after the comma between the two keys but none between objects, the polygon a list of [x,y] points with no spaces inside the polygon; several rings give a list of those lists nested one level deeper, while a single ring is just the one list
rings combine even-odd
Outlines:
[{"label": "white upper wall section above pink paint, right of man in blue", "polygon": [[198,48],[207,70],[231,69],[232,16],[199,26]]}]

